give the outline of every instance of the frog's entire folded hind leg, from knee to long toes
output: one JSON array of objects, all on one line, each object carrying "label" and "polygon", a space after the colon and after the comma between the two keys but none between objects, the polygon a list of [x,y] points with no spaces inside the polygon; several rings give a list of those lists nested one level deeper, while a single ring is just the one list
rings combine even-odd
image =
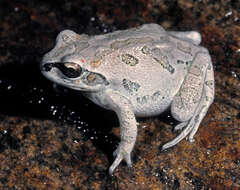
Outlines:
[{"label": "frog's entire folded hind leg, from knee to long toes", "polygon": [[198,53],[171,105],[173,117],[181,122],[176,129],[183,129],[183,131],[164,144],[162,150],[176,145],[187,136],[189,141],[193,142],[193,136],[213,99],[214,75],[211,59],[208,53]]}]

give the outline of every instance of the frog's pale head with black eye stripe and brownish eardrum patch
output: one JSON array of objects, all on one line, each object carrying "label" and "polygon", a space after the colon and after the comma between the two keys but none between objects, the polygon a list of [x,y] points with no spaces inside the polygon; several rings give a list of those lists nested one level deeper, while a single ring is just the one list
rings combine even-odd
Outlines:
[{"label": "frog's pale head with black eye stripe and brownish eardrum patch", "polygon": [[88,38],[71,30],[60,32],[55,47],[42,59],[43,75],[57,84],[80,91],[99,91],[108,85],[104,76],[84,67],[81,52],[89,46]]}]

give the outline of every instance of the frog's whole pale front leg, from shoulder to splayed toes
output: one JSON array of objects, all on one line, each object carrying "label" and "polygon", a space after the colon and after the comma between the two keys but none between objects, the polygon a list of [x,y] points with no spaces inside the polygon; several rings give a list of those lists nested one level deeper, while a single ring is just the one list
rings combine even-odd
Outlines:
[{"label": "frog's whole pale front leg, from shoulder to splayed toes", "polygon": [[131,166],[131,152],[137,137],[137,122],[131,102],[127,98],[110,89],[106,90],[105,94],[106,103],[117,113],[120,122],[121,142],[113,153],[116,158],[109,168],[109,174],[112,175],[122,160],[125,160],[129,167]]}]

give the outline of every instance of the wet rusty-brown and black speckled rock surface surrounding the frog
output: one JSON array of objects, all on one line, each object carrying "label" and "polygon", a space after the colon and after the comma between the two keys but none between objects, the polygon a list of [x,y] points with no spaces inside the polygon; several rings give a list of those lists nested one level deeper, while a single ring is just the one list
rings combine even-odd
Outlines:
[{"label": "wet rusty-brown and black speckled rock surface surrounding the frog", "polygon": [[[212,56],[215,102],[194,143],[169,113],[139,120],[133,168],[107,170],[116,116],[41,76],[57,33],[99,34],[155,22],[197,30]],[[0,189],[240,189],[240,3],[236,0],[0,1]],[[60,92],[60,93],[59,93]]]}]

